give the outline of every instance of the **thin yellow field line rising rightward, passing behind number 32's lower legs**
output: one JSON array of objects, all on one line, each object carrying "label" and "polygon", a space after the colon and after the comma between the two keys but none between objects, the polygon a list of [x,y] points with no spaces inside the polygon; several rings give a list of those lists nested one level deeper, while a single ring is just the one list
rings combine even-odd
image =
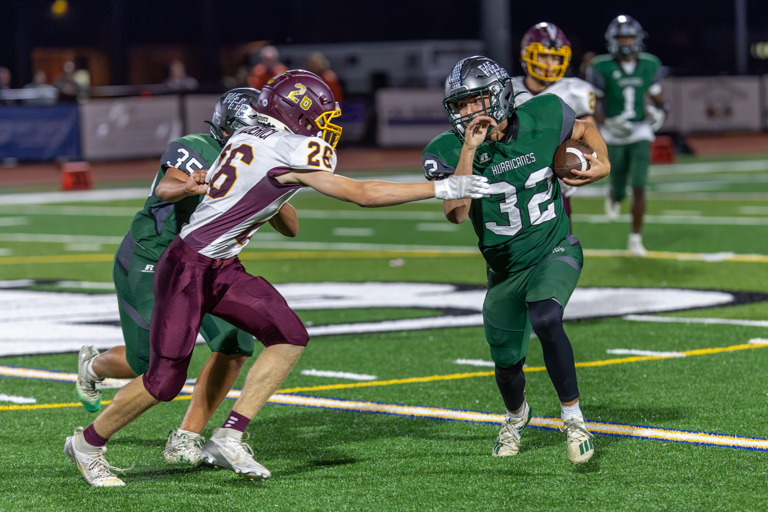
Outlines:
[{"label": "thin yellow field line rising rightward, passing behind number 32's lower legs", "polygon": [[[683,355],[708,355],[717,354],[720,352],[733,352],[736,350],[746,350],[748,348],[761,348],[766,345],[743,343],[741,345],[730,345],[727,347],[712,347],[712,348],[697,348],[695,350],[687,350],[680,352]],[[628,358],[615,358],[615,359],[603,359],[601,361],[588,361],[576,363],[576,368],[591,368],[594,366],[606,366],[606,365],[621,365],[630,362],[641,361],[654,361],[657,359],[674,359],[674,355],[636,355]],[[545,366],[532,366],[531,368],[525,368],[523,372],[544,372],[547,368]],[[355,382],[353,384],[329,384],[319,386],[306,386],[301,388],[286,388],[278,389],[276,394],[280,393],[296,393],[298,391],[327,391],[332,389],[349,389],[349,388],[366,388],[369,386],[389,386],[395,384],[413,384],[415,382],[435,382],[435,381],[448,381],[456,380],[459,378],[472,378],[472,377],[490,377],[494,375],[494,372],[466,372],[466,373],[452,373],[449,375],[429,375],[428,377],[410,377],[410,378],[393,378],[388,381],[369,381],[369,382]],[[237,391],[237,392],[236,392]],[[230,398],[237,398],[240,390],[230,391]],[[191,395],[180,395],[174,398],[174,400],[190,400]],[[101,402],[101,405],[108,405],[110,401],[105,400]],[[22,411],[32,409],[53,409],[62,407],[81,407],[79,402],[68,402],[62,404],[35,404],[35,405],[0,405],[0,411]]]}]

